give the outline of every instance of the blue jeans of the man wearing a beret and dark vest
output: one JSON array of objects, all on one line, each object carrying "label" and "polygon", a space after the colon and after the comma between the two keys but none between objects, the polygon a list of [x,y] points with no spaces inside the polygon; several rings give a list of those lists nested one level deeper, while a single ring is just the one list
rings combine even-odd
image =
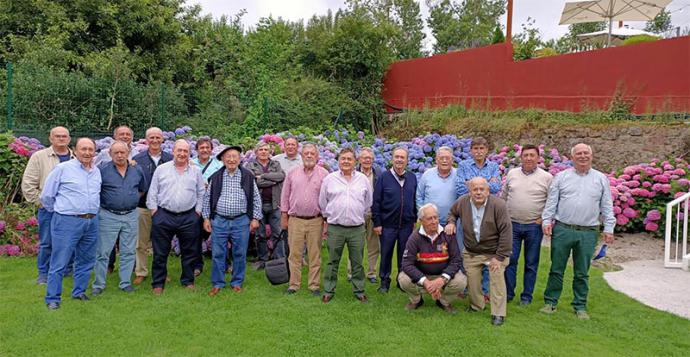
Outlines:
[{"label": "blue jeans of the man wearing a beret and dark vest", "polygon": [[230,286],[242,286],[247,268],[247,246],[249,245],[249,217],[242,215],[233,220],[216,215],[211,221],[211,284],[214,288],[225,286],[228,240],[232,243],[232,278]]}]

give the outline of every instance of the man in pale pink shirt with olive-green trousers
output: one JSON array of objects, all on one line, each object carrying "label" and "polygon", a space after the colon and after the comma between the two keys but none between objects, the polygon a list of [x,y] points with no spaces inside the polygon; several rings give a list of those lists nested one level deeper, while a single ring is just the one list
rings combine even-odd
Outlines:
[{"label": "man in pale pink shirt with olive-green trousers", "polygon": [[352,290],[362,303],[368,302],[364,294],[364,214],[371,207],[372,189],[369,179],[355,171],[355,152],[344,148],[338,153],[340,170],[326,176],[321,184],[319,207],[326,218],[324,232],[328,243],[328,267],[323,277],[322,301],[333,299],[338,282],[340,256],[345,245],[352,264]]}]

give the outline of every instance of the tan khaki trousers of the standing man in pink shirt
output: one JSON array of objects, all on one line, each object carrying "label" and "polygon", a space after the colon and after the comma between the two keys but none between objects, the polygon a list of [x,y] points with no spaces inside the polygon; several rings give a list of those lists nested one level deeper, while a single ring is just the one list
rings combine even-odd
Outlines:
[{"label": "tan khaki trousers of the standing man in pink shirt", "polygon": [[323,218],[301,219],[290,217],[288,221],[288,246],[290,247],[290,289],[299,290],[302,284],[302,254],[306,244],[309,254],[309,290],[319,289],[321,280],[321,234]]}]

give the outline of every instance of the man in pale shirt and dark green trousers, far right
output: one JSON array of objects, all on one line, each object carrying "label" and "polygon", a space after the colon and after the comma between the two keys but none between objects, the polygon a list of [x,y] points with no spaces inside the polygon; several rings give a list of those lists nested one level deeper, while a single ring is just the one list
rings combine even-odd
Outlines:
[{"label": "man in pale shirt and dark green trousers, far right", "polygon": [[570,154],[574,167],[553,179],[549,197],[542,213],[542,229],[551,242],[551,270],[544,291],[546,314],[556,311],[563,290],[563,272],[571,251],[573,255],[573,302],[578,318],[587,320],[589,266],[599,238],[600,223],[604,224],[604,242],[613,243],[611,186],[603,173],[592,168],[592,148],[577,144]]}]

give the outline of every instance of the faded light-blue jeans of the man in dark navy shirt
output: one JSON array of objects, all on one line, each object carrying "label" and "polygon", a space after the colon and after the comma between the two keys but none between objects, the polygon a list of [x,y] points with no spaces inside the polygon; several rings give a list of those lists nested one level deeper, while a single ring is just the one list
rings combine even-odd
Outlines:
[{"label": "faded light-blue jeans of the man in dark navy shirt", "polygon": [[139,236],[139,210],[129,214],[117,215],[101,208],[98,212],[100,239],[96,249],[96,268],[92,288],[105,289],[105,276],[108,273],[108,260],[115,241],[120,237],[120,289],[131,285],[134,270],[134,253]]}]

